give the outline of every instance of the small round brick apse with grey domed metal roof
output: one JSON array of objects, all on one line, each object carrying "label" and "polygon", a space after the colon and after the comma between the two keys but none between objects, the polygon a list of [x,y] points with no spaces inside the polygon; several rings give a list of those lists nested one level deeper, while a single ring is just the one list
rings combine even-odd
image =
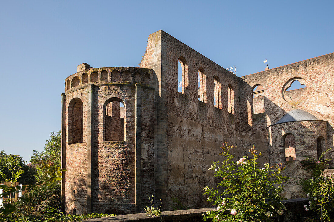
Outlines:
[{"label": "small round brick apse with grey domed metal roof", "polygon": [[319,158],[326,150],[327,121],[319,120],[304,110],[294,109],[267,130],[270,165],[282,163],[283,167],[287,167],[284,174],[293,178],[285,184],[285,197],[306,197],[299,179],[308,178],[311,174],[301,161],[308,156]]}]

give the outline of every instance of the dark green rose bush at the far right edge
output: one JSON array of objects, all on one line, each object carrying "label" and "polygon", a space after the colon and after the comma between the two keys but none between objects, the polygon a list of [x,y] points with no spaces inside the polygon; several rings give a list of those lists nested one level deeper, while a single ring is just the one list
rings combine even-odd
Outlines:
[{"label": "dark green rose bush at the far right edge", "polygon": [[313,175],[310,179],[301,180],[301,185],[310,198],[305,210],[315,210],[322,221],[330,221],[330,214],[334,212],[334,175],[328,177],[321,175],[327,162],[331,160],[323,160],[323,157],[331,149],[324,151],[319,159],[308,157],[301,162]]}]

